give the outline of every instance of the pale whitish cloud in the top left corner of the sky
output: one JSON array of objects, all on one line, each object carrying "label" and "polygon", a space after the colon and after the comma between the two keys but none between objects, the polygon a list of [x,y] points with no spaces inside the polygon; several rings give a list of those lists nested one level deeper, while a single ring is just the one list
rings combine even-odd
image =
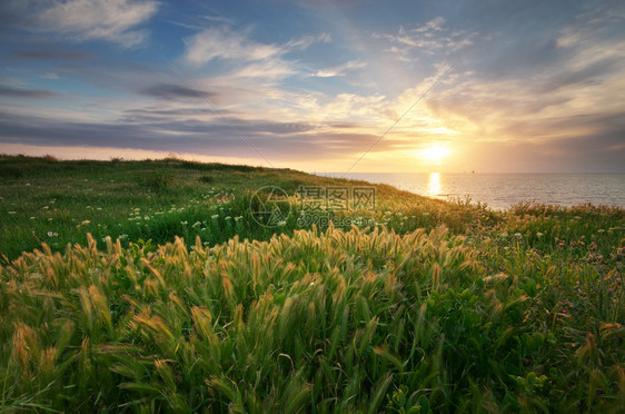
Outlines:
[{"label": "pale whitish cloud in the top left corner of the sky", "polygon": [[31,32],[59,33],[78,42],[106,40],[131,47],[143,42],[146,32],[136,27],[158,11],[158,3],[152,0],[9,0],[2,9],[12,17],[10,26]]}]

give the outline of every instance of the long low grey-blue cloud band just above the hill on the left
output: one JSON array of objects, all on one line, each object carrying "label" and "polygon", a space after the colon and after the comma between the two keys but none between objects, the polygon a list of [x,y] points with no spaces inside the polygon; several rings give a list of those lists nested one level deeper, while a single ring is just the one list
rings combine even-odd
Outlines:
[{"label": "long low grey-blue cloud band just above the hill on the left", "polygon": [[[206,121],[173,116],[165,120],[118,119],[109,124],[0,112],[0,145],[119,147],[256,158],[258,155],[248,144],[251,141],[270,160],[320,161],[349,159],[360,155],[376,139],[375,135],[366,132],[326,132],[309,122],[262,119],[229,118],[226,121],[214,117]],[[386,139],[373,152],[401,144]]]}]

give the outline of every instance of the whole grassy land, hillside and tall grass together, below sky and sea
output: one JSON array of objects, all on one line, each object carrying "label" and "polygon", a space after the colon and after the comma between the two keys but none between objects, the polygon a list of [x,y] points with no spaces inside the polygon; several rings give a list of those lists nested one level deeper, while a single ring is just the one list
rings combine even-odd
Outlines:
[{"label": "whole grassy land, hillside and tall grass together, below sky and sea", "polygon": [[246,188],[337,181],[179,160],[0,171],[0,411],[625,406],[622,209],[379,186],[358,213],[373,227],[276,231]]}]

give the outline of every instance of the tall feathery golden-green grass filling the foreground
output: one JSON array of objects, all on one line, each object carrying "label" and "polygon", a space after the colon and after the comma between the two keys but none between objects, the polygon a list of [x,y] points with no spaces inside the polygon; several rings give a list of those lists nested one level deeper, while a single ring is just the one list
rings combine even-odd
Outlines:
[{"label": "tall feathery golden-green grass filling the foreground", "polygon": [[42,245],[0,269],[0,410],[618,412],[621,265],[517,252],[500,272],[476,243],[330,226]]}]

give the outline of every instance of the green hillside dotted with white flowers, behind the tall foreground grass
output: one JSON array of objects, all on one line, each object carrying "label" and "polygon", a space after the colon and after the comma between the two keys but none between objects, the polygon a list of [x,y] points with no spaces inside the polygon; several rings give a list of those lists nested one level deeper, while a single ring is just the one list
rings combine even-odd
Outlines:
[{"label": "green hillside dotted with white flowers, behind the tall foreground grass", "polygon": [[[123,246],[140,239],[162,244],[173,241],[175,236],[192,241],[198,235],[207,244],[226,241],[235,234],[241,239],[268,239],[275,229],[266,230],[249,217],[254,191],[276,186],[294,196],[301,186],[366,184],[290,169],[173,158],[61,162],[53,158],[0,156],[0,253],[9,259],[42,241],[53,250],[65,249],[68,243],[85,244],[87,233],[100,246],[106,236],[120,237]],[[413,224],[405,224],[404,231],[440,223],[460,230],[467,221],[464,215],[475,214],[459,205],[450,208],[390,186],[376,187],[377,211],[364,213],[380,223],[389,218],[385,211],[399,211],[400,207],[418,214]],[[280,231],[292,233],[296,227],[300,204],[295,198],[291,204],[290,221]],[[434,215],[423,216],[425,211]],[[235,221],[236,217],[245,219]],[[192,227],[197,223],[200,225]]]}]

